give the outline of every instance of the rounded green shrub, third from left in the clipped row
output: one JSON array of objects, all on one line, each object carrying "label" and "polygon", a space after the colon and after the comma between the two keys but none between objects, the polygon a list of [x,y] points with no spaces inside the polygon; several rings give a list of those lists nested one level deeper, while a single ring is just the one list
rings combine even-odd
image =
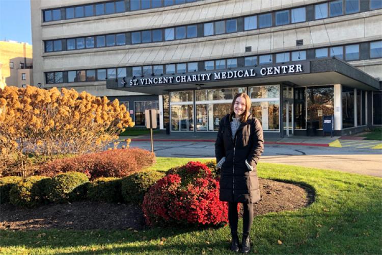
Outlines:
[{"label": "rounded green shrub, third from left in the clipped row", "polygon": [[86,197],[89,179],[84,173],[66,172],[52,178],[47,198],[54,203],[80,200]]}]

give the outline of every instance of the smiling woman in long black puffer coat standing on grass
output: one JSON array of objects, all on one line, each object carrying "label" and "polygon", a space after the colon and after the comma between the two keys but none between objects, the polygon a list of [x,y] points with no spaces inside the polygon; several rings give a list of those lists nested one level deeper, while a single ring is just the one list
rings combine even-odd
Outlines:
[{"label": "smiling woman in long black puffer coat standing on grass", "polygon": [[215,142],[216,167],[220,168],[220,200],[228,202],[231,247],[239,251],[237,203],[243,204],[241,252],[249,252],[253,203],[260,200],[256,165],[264,150],[263,130],[250,114],[251,99],[245,93],[232,101],[231,113],[222,118]]}]

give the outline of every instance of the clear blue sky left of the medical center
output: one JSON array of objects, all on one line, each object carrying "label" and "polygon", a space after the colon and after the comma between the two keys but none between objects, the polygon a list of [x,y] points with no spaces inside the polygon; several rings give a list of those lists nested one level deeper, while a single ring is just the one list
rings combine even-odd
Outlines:
[{"label": "clear blue sky left of the medical center", "polygon": [[0,41],[32,44],[31,1],[0,0]]}]

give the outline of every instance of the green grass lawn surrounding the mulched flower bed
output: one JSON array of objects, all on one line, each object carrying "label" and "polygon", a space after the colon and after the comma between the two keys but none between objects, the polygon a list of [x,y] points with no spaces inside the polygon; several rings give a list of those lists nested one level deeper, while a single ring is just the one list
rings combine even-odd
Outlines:
[{"label": "green grass lawn surrounding the mulched flower bed", "polygon": [[[152,168],[164,170],[190,160],[196,159],[157,158]],[[251,232],[253,252],[382,252],[382,179],[267,163],[258,165],[258,173],[262,178],[310,186],[315,191],[315,201],[298,211],[256,217]],[[204,230],[174,226],[139,232],[1,231],[0,253],[222,254],[229,253],[229,238],[228,225]]]}]

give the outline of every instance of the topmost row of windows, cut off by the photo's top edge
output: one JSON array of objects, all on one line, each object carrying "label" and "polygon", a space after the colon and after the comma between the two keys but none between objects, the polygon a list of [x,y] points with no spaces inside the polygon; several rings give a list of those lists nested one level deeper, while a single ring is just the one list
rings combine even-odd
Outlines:
[{"label": "topmost row of windows, cut off by the photo's top edge", "polygon": [[[200,0],[130,0],[130,11],[179,5],[196,1]],[[128,10],[125,6],[125,1],[114,1],[44,10],[43,14],[44,22],[48,22],[61,19],[107,15],[126,11]]]}]

